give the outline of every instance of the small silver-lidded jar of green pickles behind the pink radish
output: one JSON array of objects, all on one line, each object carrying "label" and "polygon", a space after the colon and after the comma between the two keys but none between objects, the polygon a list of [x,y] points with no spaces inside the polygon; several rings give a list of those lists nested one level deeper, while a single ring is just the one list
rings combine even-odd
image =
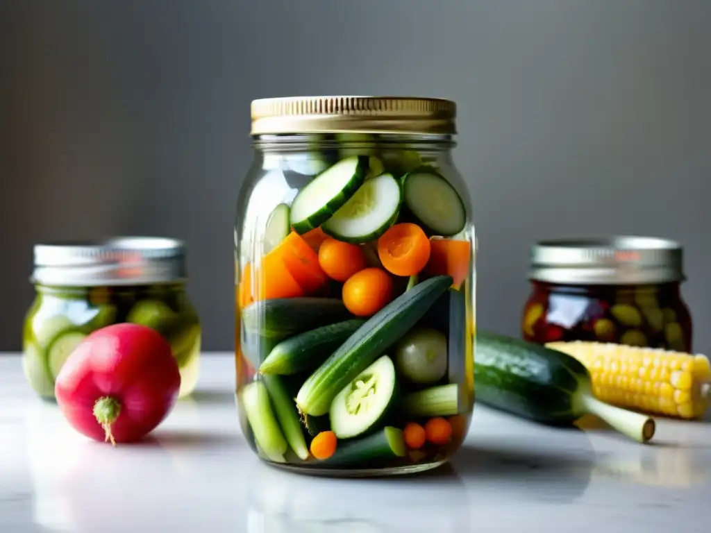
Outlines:
[{"label": "small silver-lidded jar of green pickles behind the pink radish", "polygon": [[23,367],[35,392],[54,399],[54,381],[92,331],[132,322],[171,343],[180,397],[196,386],[201,324],[186,294],[185,247],[173,239],[122,237],[37,244],[36,297],[23,325]]}]

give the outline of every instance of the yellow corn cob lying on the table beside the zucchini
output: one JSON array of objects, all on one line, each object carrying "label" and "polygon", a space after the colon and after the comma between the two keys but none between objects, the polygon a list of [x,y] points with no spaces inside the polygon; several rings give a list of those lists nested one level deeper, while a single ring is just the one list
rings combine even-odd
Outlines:
[{"label": "yellow corn cob lying on the table beside the zucchini", "polygon": [[705,355],[584,341],[547,343],[572,355],[592,377],[603,402],[648,413],[696,419],[711,399],[711,365]]}]

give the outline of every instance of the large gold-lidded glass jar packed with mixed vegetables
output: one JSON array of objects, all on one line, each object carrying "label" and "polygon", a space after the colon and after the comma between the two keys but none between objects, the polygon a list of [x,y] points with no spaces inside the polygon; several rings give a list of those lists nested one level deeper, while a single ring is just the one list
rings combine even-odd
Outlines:
[{"label": "large gold-lidded glass jar packed with mixed vegetables", "polygon": [[260,458],[343,476],[428,470],[469,429],[469,193],[441,99],[252,102],[235,223],[242,431]]}]

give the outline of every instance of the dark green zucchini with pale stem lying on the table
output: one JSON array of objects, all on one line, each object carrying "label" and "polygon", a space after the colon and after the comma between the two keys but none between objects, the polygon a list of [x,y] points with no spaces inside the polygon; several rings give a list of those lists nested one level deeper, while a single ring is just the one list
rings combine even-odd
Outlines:
[{"label": "dark green zucchini with pale stem lying on the table", "polygon": [[581,362],[542,345],[479,331],[474,383],[476,401],[541,424],[569,425],[595,414],[636,441],[654,435],[653,419],[600,402]]}]

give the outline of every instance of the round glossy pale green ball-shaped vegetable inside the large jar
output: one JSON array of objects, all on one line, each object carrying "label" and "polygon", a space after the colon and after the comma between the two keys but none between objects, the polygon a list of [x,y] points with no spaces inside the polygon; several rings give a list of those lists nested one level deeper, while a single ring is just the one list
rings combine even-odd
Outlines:
[{"label": "round glossy pale green ball-shaped vegetable inside the large jar", "polygon": [[447,337],[432,328],[413,328],[395,347],[397,373],[417,384],[437,383],[447,373]]}]

